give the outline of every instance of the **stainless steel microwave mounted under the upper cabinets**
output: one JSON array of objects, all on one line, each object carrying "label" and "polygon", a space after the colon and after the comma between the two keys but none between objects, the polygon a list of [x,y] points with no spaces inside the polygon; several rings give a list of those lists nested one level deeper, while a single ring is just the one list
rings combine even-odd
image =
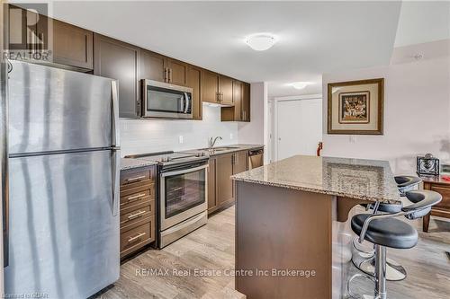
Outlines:
[{"label": "stainless steel microwave mounted under the upper cabinets", "polygon": [[142,117],[192,119],[193,89],[153,80],[141,80]]}]

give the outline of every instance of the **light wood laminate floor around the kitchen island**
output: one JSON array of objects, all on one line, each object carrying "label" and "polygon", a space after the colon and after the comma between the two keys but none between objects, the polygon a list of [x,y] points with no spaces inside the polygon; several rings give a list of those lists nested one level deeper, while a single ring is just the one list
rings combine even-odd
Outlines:
[{"label": "light wood laminate floor around the kitchen island", "polygon": [[[235,209],[229,207],[165,249],[145,251],[130,259],[121,265],[120,279],[97,298],[245,298],[234,290],[234,277],[223,273],[234,268],[234,223]],[[338,225],[340,233],[348,233],[348,223]],[[421,221],[415,225],[421,227]],[[349,235],[349,239],[351,237]],[[349,252],[350,244],[343,243],[341,249]],[[415,248],[388,250],[388,257],[400,262],[408,271],[405,280],[388,282],[388,298],[449,297],[450,259],[446,251],[450,251],[450,223],[436,218],[430,222],[430,233],[421,233],[419,229],[419,244]],[[341,260],[344,278],[357,272],[348,258],[344,253]],[[151,269],[156,272],[149,272]],[[202,277],[195,269],[222,273]],[[175,274],[174,270],[179,273]],[[345,293],[344,284],[338,287],[343,288],[339,294]],[[362,289],[371,287],[368,282],[361,283]]]}]

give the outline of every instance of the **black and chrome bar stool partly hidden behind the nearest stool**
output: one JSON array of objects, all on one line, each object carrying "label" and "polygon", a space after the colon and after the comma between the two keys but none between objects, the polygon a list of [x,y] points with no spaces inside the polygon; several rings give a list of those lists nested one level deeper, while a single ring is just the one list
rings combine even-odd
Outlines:
[{"label": "black and chrome bar stool partly hidden behind the nearest stool", "polygon": [[[396,176],[394,177],[395,182],[401,196],[404,196],[406,190],[416,189],[419,183],[422,181],[418,177],[413,176]],[[363,204],[366,210],[372,209],[373,214],[380,213],[399,213],[401,212],[401,205],[394,204]],[[375,275],[375,251],[365,251],[358,246],[358,238],[353,240],[353,248],[356,251],[352,252],[352,262],[356,268],[365,272],[365,274],[374,276]],[[390,281],[400,281],[406,278],[406,270],[398,262],[392,259],[387,259],[386,262],[386,279]]]}]

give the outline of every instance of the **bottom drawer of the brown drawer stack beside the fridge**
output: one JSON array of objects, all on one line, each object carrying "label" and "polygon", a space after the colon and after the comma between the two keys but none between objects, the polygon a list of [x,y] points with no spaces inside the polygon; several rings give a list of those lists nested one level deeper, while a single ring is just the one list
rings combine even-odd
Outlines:
[{"label": "bottom drawer of the brown drawer stack beside the fridge", "polygon": [[155,216],[148,219],[148,223],[139,225],[129,231],[121,233],[121,257],[138,251],[143,246],[155,240]]}]

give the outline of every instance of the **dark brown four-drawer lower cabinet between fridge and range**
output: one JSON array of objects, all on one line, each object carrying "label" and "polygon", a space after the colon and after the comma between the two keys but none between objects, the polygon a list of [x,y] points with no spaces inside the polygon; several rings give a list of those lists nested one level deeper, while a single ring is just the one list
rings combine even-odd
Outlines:
[{"label": "dark brown four-drawer lower cabinet between fridge and range", "polygon": [[155,166],[121,171],[121,258],[156,240]]}]

